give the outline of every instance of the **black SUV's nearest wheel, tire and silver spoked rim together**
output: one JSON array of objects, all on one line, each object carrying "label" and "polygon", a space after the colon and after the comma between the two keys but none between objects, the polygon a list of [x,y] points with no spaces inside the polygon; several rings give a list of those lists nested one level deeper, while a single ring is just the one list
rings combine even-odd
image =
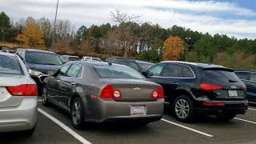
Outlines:
[{"label": "black SUV's nearest wheel, tire and silver spoked rim together", "polygon": [[173,113],[180,122],[194,122],[194,102],[187,95],[178,96],[174,100]]}]

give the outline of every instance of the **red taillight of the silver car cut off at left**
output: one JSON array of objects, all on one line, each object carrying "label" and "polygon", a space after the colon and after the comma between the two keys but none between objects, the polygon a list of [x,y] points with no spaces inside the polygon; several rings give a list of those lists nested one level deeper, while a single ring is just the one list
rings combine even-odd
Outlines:
[{"label": "red taillight of the silver car cut off at left", "polygon": [[34,84],[8,86],[6,89],[12,96],[38,96],[38,86]]}]

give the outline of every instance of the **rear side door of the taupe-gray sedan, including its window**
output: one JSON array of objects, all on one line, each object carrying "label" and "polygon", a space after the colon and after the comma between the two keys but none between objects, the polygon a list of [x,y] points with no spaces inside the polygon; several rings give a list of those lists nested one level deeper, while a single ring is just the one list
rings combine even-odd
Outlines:
[{"label": "rear side door of the taupe-gray sedan, including its window", "polygon": [[70,69],[66,72],[66,77],[61,77],[58,85],[58,89],[61,91],[59,95],[59,102],[64,106],[68,106],[70,96],[74,94],[77,82],[82,79],[83,66],[78,63],[74,63],[70,66]]}]

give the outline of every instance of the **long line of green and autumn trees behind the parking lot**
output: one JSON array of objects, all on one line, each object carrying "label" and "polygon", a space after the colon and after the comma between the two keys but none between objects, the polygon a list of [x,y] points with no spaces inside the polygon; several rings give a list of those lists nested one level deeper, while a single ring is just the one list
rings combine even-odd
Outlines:
[{"label": "long line of green and autumn trees behind the parking lot", "polygon": [[[58,20],[54,50],[62,54],[98,54],[150,62],[182,60],[233,68],[256,67],[256,39],[202,34],[182,26],[163,28],[141,22],[138,15],[120,10],[111,11],[110,16],[115,25],[80,26],[78,30],[69,20]],[[14,22],[4,12],[0,14],[0,40],[3,42],[47,50],[52,35],[53,22],[49,18],[28,17]]]}]

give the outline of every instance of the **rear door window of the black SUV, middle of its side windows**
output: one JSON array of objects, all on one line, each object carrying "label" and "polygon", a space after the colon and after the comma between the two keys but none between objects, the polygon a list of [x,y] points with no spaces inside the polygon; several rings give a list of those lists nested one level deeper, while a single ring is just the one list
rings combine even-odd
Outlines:
[{"label": "rear door window of the black SUV, middle of its side windows", "polygon": [[182,65],[178,64],[166,64],[165,68],[162,70],[162,77],[176,77],[182,78]]}]

